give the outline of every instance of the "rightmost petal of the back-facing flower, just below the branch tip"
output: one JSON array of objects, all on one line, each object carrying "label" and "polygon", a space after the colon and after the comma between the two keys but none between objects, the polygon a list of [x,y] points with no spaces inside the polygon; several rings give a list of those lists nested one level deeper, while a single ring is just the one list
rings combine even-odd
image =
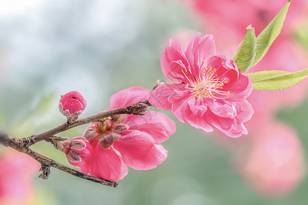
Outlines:
[{"label": "rightmost petal of the back-facing flower, just below the branch tip", "polygon": [[155,111],[148,111],[142,116],[129,115],[126,124],[131,129],[149,133],[154,143],[162,143],[175,133],[175,122],[167,115]]}]

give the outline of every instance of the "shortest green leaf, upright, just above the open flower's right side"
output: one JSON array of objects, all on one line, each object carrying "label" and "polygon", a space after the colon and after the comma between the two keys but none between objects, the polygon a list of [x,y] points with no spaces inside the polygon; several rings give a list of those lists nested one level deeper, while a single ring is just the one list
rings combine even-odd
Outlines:
[{"label": "shortest green leaf, upright, just above the open flower's right side", "polygon": [[232,59],[238,65],[238,69],[247,72],[255,59],[256,39],[255,29],[249,25],[246,29],[244,40],[238,46],[238,50]]}]

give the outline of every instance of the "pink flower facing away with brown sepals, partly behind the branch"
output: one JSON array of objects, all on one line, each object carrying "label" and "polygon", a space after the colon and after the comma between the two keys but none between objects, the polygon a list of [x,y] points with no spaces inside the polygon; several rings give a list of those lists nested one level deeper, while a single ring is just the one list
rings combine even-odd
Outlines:
[{"label": "pink flower facing away with brown sepals, partly behind the branch", "polygon": [[[114,94],[110,109],[125,107],[149,98],[150,90],[130,87]],[[166,115],[148,111],[145,115],[114,115],[91,124],[84,137],[90,141],[93,154],[81,172],[104,178],[121,180],[127,165],[133,169],[147,170],[166,160],[167,150],[162,145],[175,132],[175,122]]]}]

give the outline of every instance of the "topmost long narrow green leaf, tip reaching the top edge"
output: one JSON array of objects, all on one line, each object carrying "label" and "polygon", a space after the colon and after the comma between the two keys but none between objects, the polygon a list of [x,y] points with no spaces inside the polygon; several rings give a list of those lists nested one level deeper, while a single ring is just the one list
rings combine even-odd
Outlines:
[{"label": "topmost long narrow green leaf, tip reaching the top edge", "polygon": [[270,24],[268,24],[268,26],[257,37],[257,50],[255,60],[253,61],[253,64],[251,64],[251,67],[255,66],[255,64],[257,64],[264,57],[264,55],[266,55],[274,40],[277,36],[279,36],[289,7],[290,1],[287,1],[277,16],[275,16]]}]

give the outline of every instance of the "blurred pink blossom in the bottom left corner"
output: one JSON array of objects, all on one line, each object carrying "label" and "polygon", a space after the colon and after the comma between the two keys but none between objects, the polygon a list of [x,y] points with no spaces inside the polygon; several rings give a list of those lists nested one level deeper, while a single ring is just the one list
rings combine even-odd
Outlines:
[{"label": "blurred pink blossom in the bottom left corner", "polygon": [[38,172],[40,164],[30,156],[16,151],[0,156],[0,204],[29,204],[33,199],[31,176]]}]

